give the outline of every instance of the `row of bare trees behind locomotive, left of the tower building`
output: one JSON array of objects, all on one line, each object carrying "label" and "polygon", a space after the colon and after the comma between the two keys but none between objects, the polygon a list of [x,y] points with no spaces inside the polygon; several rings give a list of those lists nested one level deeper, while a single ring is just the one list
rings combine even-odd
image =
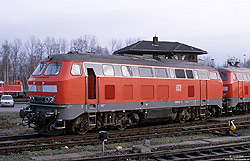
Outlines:
[{"label": "row of bare trees behind locomotive, left of the tower building", "polygon": [[68,49],[79,53],[109,54],[121,49],[124,44],[130,45],[139,38],[126,39],[125,43],[111,39],[109,47],[98,44],[95,36],[83,35],[66,41],[62,38],[47,37],[44,40],[32,36],[27,41],[14,39],[0,44],[0,80],[5,82],[21,80],[27,90],[27,80],[46,56],[67,53]]}]

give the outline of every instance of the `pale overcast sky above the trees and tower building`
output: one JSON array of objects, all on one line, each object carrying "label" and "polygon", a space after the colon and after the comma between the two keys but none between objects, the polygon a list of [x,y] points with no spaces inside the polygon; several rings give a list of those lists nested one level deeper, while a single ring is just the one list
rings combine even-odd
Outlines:
[{"label": "pale overcast sky above the trees and tower building", "polygon": [[178,41],[250,58],[250,0],[0,0],[0,42],[36,36]]}]

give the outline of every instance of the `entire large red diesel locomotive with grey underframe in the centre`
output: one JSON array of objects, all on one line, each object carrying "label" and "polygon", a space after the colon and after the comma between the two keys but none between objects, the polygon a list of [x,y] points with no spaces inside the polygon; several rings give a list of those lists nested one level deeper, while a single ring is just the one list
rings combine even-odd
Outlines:
[{"label": "entire large red diesel locomotive with grey underframe in the centre", "polygon": [[42,134],[124,129],[144,121],[202,119],[223,111],[223,82],[208,66],[95,54],[41,61],[21,118]]}]

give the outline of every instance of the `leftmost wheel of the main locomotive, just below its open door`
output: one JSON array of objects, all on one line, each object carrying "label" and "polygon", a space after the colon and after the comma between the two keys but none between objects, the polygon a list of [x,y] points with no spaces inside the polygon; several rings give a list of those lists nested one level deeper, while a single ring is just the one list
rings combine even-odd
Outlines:
[{"label": "leftmost wheel of the main locomotive, just below its open door", "polygon": [[73,131],[75,131],[80,135],[86,134],[87,131],[89,130],[89,123],[87,121],[87,118],[84,116],[78,117],[74,121],[72,128]]}]

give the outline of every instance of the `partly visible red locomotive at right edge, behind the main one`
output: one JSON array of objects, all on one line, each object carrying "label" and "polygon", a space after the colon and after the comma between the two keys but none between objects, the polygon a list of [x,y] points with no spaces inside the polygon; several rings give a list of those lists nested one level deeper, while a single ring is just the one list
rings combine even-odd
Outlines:
[{"label": "partly visible red locomotive at right edge, behind the main one", "polygon": [[247,113],[250,110],[250,69],[228,66],[218,71],[223,80],[225,112]]}]

